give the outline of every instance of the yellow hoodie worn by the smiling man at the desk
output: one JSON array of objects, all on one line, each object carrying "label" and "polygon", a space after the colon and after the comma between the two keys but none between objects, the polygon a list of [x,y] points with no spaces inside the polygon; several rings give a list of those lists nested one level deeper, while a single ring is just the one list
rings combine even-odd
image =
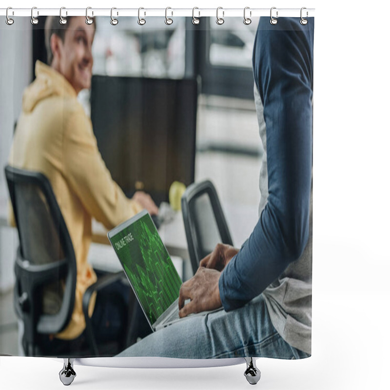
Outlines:
[{"label": "yellow hoodie worn by the smiling man at the desk", "polygon": [[[98,151],[91,120],[71,84],[39,61],[35,73],[23,94],[9,163],[48,177],[65,219],[77,261],[76,299],[71,321],[56,337],[73,339],[85,328],[82,295],[97,280],[87,263],[91,218],[112,229],[142,207],[113,181]],[[90,315],[94,306],[92,299]]]}]

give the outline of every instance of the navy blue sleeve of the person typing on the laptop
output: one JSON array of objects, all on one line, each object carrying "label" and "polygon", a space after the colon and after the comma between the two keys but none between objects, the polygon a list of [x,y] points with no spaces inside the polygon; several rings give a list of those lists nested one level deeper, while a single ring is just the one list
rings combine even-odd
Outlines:
[{"label": "navy blue sleeve of the person typing on the laptop", "polygon": [[309,237],[314,19],[260,18],[254,81],[267,131],[268,201],[246,244],[223,270],[226,311],[245,305],[297,260]]}]

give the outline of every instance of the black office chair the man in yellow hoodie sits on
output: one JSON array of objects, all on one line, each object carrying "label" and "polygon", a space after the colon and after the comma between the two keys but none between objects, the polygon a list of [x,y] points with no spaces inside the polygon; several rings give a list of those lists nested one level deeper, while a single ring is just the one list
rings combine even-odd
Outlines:
[{"label": "black office chair the man in yellow hoodie sits on", "polygon": [[[38,172],[5,167],[20,246],[15,260],[14,307],[24,324],[22,346],[27,356],[53,355],[39,346],[42,335],[65,329],[74,308],[76,257],[65,221],[49,180]],[[107,274],[83,296],[88,345],[67,351],[66,357],[116,354],[123,345],[98,346],[88,316],[90,298],[123,273]],[[50,297],[50,302],[47,302]]]}]

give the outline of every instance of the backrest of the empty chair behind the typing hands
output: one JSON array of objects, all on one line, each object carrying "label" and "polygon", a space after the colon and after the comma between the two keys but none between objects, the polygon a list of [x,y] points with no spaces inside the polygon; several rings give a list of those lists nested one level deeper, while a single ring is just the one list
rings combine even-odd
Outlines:
[{"label": "backrest of the empty chair behind the typing hands", "polygon": [[215,187],[210,180],[191,184],[181,198],[188,252],[195,273],[218,243],[233,245]]}]

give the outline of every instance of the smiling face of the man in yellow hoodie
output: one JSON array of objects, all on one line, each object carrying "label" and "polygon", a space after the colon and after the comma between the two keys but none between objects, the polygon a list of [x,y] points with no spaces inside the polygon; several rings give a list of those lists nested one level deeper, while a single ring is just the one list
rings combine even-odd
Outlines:
[{"label": "smiling face of the man in yellow hoodie", "polygon": [[59,72],[79,93],[91,87],[95,27],[86,24],[84,17],[73,17],[68,23],[64,41],[59,39]]}]

